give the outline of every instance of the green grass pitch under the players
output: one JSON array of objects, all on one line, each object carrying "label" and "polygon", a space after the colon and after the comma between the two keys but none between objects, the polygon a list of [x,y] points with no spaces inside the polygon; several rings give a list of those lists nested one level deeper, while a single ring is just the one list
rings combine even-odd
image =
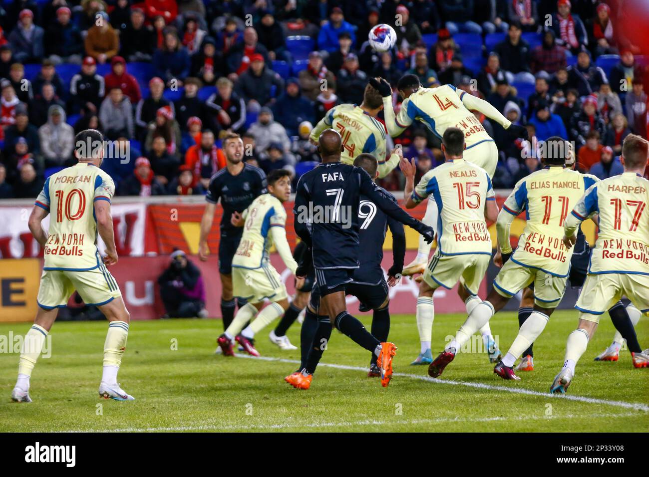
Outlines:
[{"label": "green grass pitch under the players", "polygon": [[[463,318],[435,317],[434,355]],[[368,326],[370,319],[363,317]],[[319,367],[311,389],[298,391],[283,378],[297,367],[289,361],[299,360],[299,351],[272,345],[271,328],[258,336],[258,349],[281,360],[215,355],[219,320],[134,321],[119,372],[134,402],[97,397],[106,323],[57,323],[52,356],[40,359],[32,374],[31,404],[11,402],[18,354],[0,353],[0,431],[646,432],[649,369],[634,369],[626,351],[617,363],[593,361],[613,337],[607,315],[578,363],[569,398],[546,394],[576,322],[572,311],[551,317],[535,345],[535,371],[520,373],[519,382],[495,376],[478,352],[459,354],[440,382],[428,378],[426,367],[409,365],[419,352],[415,318],[395,315],[390,338],[399,349],[389,387],[366,377],[369,352],[334,332],[323,363],[339,367]],[[0,324],[0,336],[28,329],[27,323]],[[503,351],[517,329],[515,313],[491,321]],[[647,346],[646,317],[637,333]],[[289,337],[299,344],[299,324]]]}]

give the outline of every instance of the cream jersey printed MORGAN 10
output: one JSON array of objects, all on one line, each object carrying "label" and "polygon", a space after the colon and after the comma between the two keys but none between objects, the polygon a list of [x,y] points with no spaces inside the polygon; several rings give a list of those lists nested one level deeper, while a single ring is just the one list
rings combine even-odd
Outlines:
[{"label": "cream jersey printed MORGAN 10", "polygon": [[92,164],[67,167],[45,180],[36,205],[50,212],[43,249],[45,270],[92,270],[99,266],[95,201],[108,201],[115,184]]}]

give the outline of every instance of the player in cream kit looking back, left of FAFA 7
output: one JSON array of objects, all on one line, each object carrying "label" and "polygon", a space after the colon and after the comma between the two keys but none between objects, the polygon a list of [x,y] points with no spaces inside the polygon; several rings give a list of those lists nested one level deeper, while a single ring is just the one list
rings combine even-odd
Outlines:
[{"label": "player in cream kit looking back, left of FAFA 7", "polygon": [[[243,214],[232,214],[232,225],[243,228],[239,247],[232,258],[232,287],[234,296],[244,299],[246,304],[239,308],[232,323],[217,340],[225,356],[234,356],[234,339],[247,353],[260,356],[252,343],[254,335],[288,308],[286,286],[269,261],[269,249],[275,244],[280,257],[295,274],[297,263],[286,240],[283,205],[291,196],[291,173],[275,169],[268,175],[267,182],[267,193],[254,199]],[[300,286],[301,279],[297,283],[297,287]],[[271,303],[262,310],[264,300]],[[255,315],[254,321],[243,329]]]}]

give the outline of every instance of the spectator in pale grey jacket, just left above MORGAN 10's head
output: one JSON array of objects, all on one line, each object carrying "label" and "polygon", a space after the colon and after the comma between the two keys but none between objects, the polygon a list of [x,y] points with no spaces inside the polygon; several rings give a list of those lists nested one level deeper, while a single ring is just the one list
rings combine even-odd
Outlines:
[{"label": "spectator in pale grey jacket, just left above MORGAN 10's head", "polygon": [[53,104],[48,114],[47,123],[38,128],[45,167],[72,165],[75,130],[66,123],[66,110]]}]

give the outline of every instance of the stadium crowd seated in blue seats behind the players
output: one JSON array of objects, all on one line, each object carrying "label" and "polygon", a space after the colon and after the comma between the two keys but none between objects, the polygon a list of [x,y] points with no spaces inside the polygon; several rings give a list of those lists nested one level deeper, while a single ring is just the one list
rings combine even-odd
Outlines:
[{"label": "stadium crowd seated in blue seats behind the players", "polygon": [[[319,160],[308,136],[328,110],[404,73],[486,99],[530,137],[574,141],[583,171],[617,175],[624,138],[647,137],[649,58],[613,16],[593,0],[4,1],[0,199],[36,197],[88,127],[129,148],[102,166],[118,195],[205,193],[227,132],[248,162],[297,178]],[[395,26],[393,51],[367,42],[378,23]],[[541,167],[534,141],[476,116],[500,151],[496,187]],[[429,130],[396,142],[417,178],[443,162]]]}]

